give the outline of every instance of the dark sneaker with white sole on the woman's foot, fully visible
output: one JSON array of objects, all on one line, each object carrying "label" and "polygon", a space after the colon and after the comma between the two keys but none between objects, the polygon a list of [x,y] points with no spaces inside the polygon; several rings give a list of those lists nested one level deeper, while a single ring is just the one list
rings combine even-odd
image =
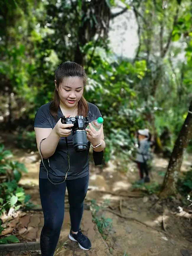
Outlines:
[{"label": "dark sneaker with white sole on the woman's foot, fully visible", "polygon": [[79,247],[82,250],[88,251],[91,249],[91,241],[88,237],[82,234],[81,229],[79,229],[77,234],[69,233],[69,239],[74,242],[78,242]]}]

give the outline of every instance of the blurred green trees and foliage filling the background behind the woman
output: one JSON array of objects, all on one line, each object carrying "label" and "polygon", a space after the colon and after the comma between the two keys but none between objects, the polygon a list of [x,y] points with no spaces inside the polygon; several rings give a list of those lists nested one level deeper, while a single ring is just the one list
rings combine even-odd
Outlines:
[{"label": "blurred green trees and foliage filling the background behind the woman", "polygon": [[104,117],[106,162],[116,152],[126,157],[138,128],[160,135],[167,125],[172,149],[191,97],[191,2],[125,3],[138,25],[134,59],[110,49],[109,24],[118,17],[112,15],[114,1],[103,1],[100,8],[97,1],[1,3],[7,11],[0,44],[0,112],[4,127],[9,123],[21,131],[19,146],[35,148],[34,133],[29,133],[35,112],[53,98],[57,65],[74,60],[87,71],[86,99]]}]

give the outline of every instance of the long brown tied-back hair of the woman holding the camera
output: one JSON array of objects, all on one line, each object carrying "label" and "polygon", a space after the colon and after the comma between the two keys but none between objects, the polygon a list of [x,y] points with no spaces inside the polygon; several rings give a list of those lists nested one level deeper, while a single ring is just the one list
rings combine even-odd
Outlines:
[{"label": "long brown tied-back hair of the woman holding the camera", "polygon": [[[80,66],[79,64],[73,61],[66,61],[61,63],[55,71],[55,80],[56,80],[57,88],[63,82],[64,78],[69,78],[73,76],[81,77],[83,79],[83,86],[84,87],[86,86],[87,77],[86,77],[85,70],[82,66]],[[54,100],[51,102],[51,105],[49,108],[51,115],[55,119],[57,119],[58,117],[57,111],[60,104],[57,88],[55,88]],[[84,117],[86,117],[89,107],[88,107],[87,101],[83,96],[79,100],[77,107],[78,107],[78,115],[83,115]]]}]

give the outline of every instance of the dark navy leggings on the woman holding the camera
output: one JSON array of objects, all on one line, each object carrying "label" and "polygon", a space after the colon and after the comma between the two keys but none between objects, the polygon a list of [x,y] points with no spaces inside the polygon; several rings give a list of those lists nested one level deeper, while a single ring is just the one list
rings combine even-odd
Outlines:
[{"label": "dark navy leggings on the woman holding the camera", "polygon": [[67,187],[71,230],[79,231],[83,215],[83,201],[87,194],[89,175],[54,185],[48,179],[39,179],[39,192],[44,214],[40,236],[42,256],[53,256],[64,220],[65,191]]}]

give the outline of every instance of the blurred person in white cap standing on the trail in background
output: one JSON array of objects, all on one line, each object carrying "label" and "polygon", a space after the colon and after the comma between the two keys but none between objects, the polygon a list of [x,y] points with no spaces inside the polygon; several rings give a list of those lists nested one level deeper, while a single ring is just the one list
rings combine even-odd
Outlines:
[{"label": "blurred person in white cap standing on the trail in background", "polygon": [[148,129],[138,131],[138,144],[136,145],[136,163],[139,169],[139,183],[150,182],[147,160],[151,146],[151,136]]}]

